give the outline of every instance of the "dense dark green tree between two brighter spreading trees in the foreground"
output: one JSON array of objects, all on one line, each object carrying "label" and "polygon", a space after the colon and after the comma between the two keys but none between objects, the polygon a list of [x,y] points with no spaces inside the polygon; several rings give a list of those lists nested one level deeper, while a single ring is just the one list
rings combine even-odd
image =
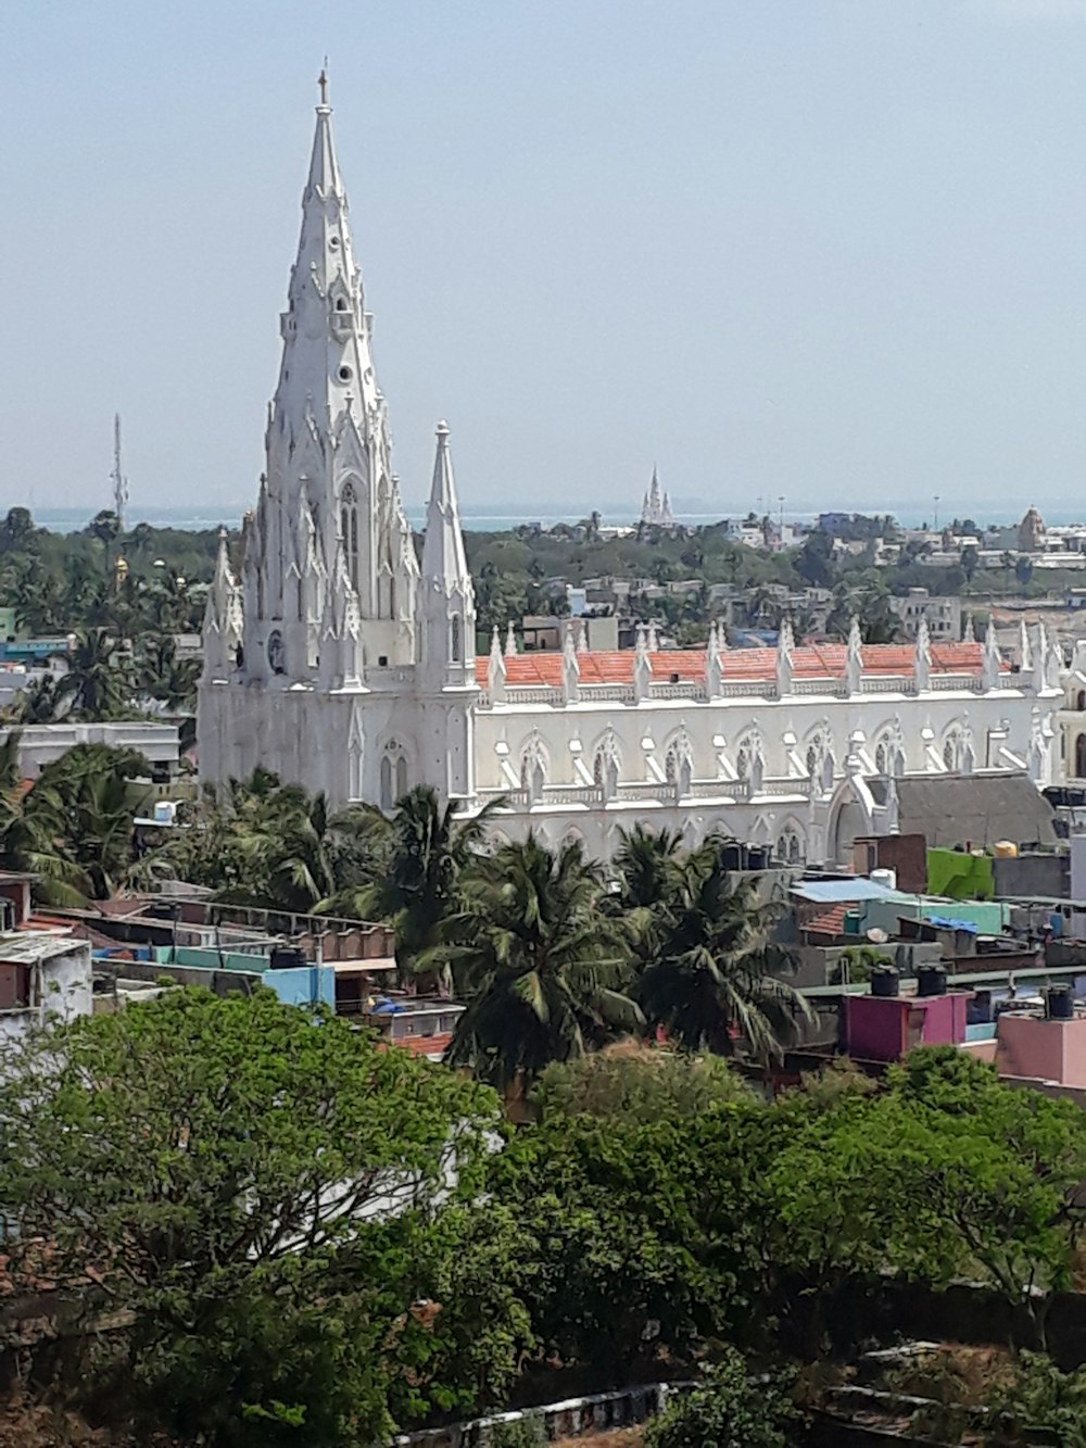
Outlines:
[{"label": "dense dark green tree between two brighter spreading trees in the foreground", "polygon": [[753,1095],[647,1119],[621,1103],[566,1115],[552,1100],[517,1134],[494,1190],[526,1242],[523,1293],[546,1360],[605,1380],[740,1329],[752,1183],[737,1122],[754,1141],[765,1115]]}]

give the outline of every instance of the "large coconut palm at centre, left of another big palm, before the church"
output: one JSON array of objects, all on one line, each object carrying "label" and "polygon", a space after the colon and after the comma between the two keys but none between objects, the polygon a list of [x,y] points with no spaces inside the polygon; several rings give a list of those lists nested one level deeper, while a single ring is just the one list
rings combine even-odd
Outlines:
[{"label": "large coconut palm at centre, left of another big palm, before the church", "polygon": [[447,948],[468,999],[446,1060],[508,1090],[639,1030],[624,922],[601,908],[602,875],[579,844],[534,834],[479,860]]}]

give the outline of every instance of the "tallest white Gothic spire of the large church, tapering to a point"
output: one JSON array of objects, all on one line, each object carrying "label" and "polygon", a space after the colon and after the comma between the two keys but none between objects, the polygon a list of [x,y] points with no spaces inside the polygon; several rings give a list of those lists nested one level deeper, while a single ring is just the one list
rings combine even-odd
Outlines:
[{"label": "tallest white Gothic spire of the large church, tapering to a point", "polygon": [[[298,252],[279,319],[282,361],[253,536],[259,552],[246,555],[253,572],[246,672],[258,676],[252,670],[262,669],[259,660],[274,646],[277,672],[292,681],[311,672],[313,620],[346,626],[348,598],[329,610],[329,591],[352,595],[362,654],[378,666],[417,660],[418,563],[392,476],[388,411],[323,74],[316,110]],[[252,611],[251,594],[258,604]]]}]

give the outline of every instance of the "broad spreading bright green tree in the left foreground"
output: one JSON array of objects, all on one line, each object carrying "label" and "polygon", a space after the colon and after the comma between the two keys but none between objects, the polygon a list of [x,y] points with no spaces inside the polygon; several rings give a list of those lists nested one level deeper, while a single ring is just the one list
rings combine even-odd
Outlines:
[{"label": "broad spreading bright green tree in the left foreground", "polygon": [[492,1093],[265,990],[172,992],[6,1066],[9,1270],[48,1242],[61,1287],[130,1315],[111,1384],[145,1426],[332,1448],[508,1386],[524,1318],[469,1211]]}]

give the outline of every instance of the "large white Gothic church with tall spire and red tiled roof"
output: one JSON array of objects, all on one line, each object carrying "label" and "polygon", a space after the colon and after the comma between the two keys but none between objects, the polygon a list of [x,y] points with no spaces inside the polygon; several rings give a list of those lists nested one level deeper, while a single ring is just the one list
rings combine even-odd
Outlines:
[{"label": "large white Gothic church with tall spire and red tiled roof", "polygon": [[[475,657],[475,607],[437,426],[421,562],[391,463],[372,317],[348,226],[330,107],[317,107],[301,237],[281,314],[266,472],[209,595],[204,779],[277,770],[340,807],[391,808],[426,782],[495,834],[537,830],[608,854],[636,824],[724,830],[785,860],[844,859],[896,828],[902,775],[1054,770],[1061,660],[1038,627],[1012,668],[986,644],[796,646]],[[1056,747],[1058,756],[1058,744]]]}]

